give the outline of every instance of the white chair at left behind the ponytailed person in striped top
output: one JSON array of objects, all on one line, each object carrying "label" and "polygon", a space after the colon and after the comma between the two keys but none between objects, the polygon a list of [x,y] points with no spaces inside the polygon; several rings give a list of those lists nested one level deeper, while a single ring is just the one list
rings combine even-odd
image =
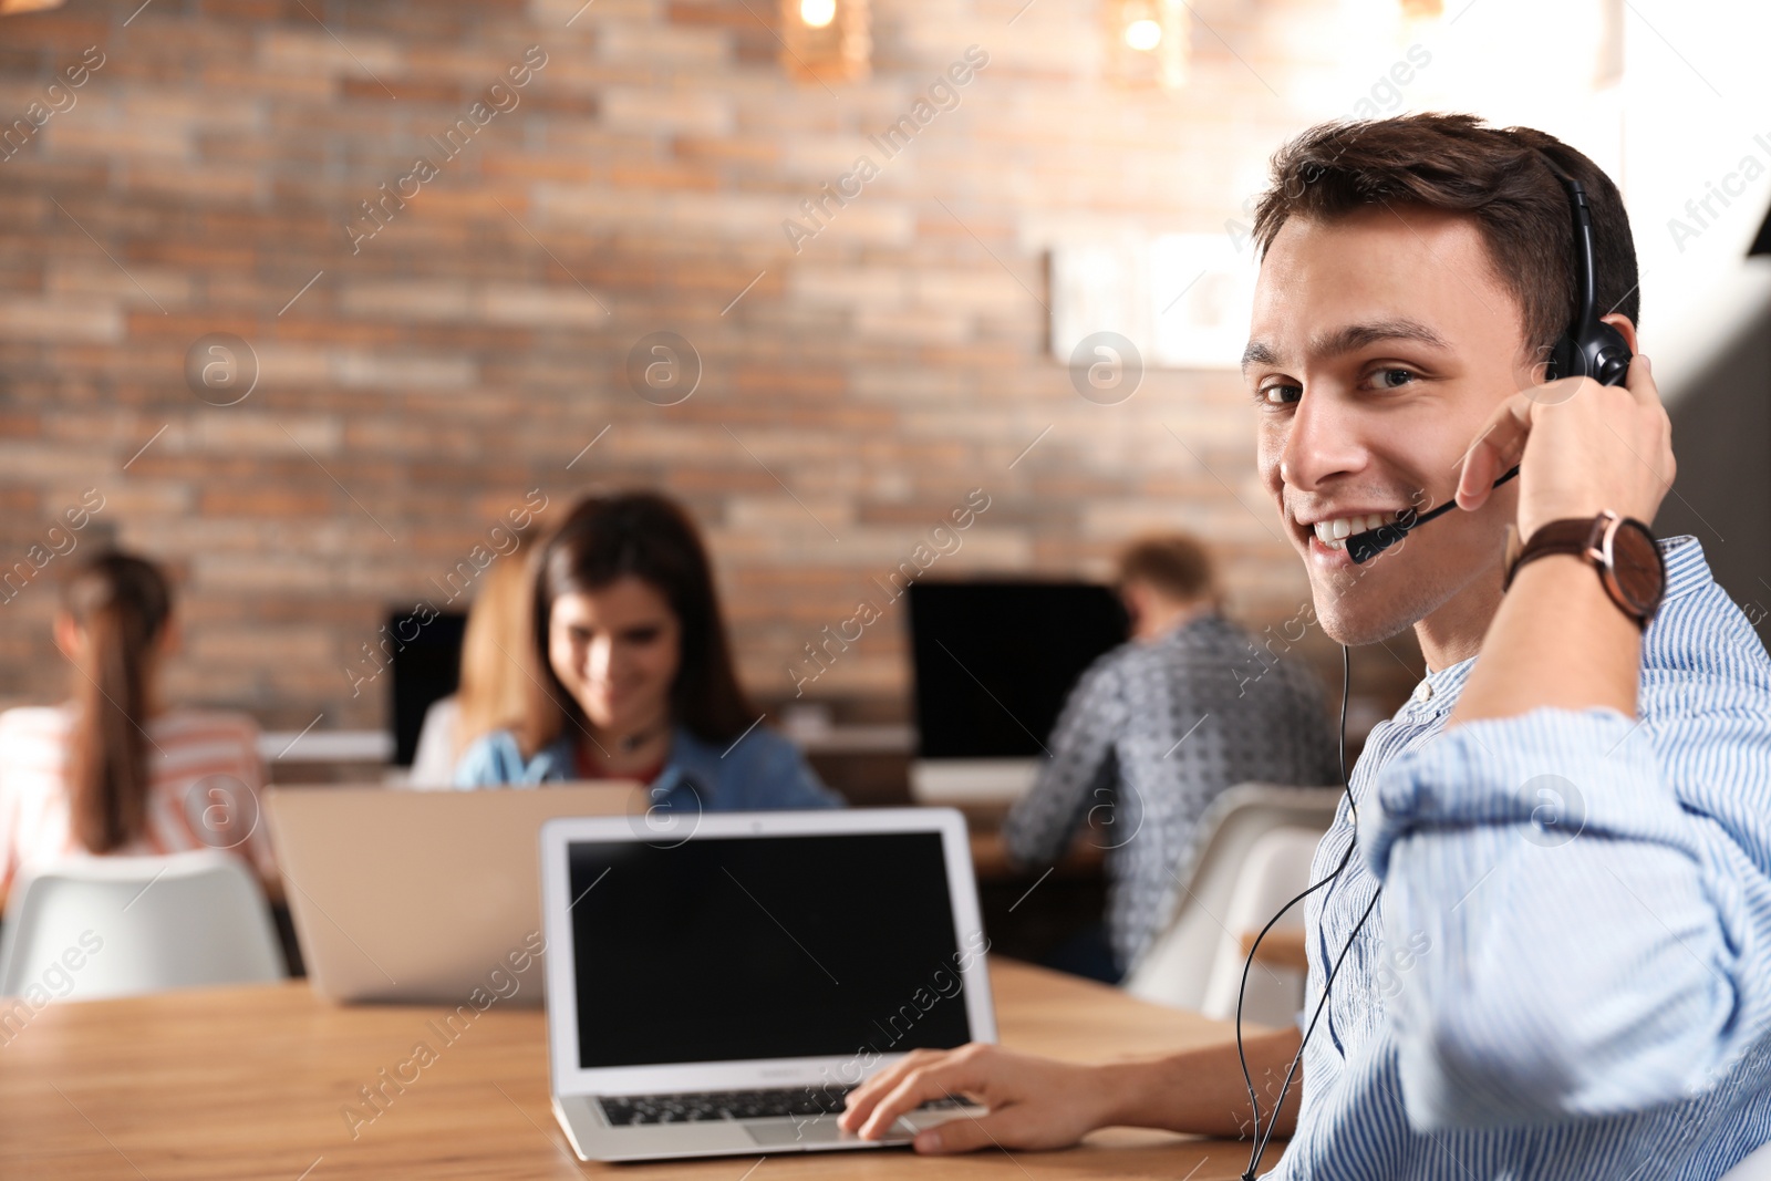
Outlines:
[{"label": "white chair at left behind the ponytailed person in striped top", "polygon": [[218,850],[80,857],[27,871],[7,901],[0,997],[129,997],[285,977],[250,869]]}]

